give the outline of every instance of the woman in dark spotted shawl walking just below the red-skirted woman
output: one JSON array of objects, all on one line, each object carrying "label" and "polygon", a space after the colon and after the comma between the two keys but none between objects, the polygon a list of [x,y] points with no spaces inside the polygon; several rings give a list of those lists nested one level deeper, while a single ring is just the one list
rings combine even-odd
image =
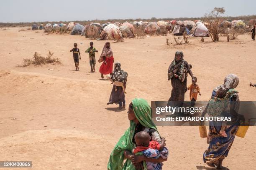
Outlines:
[{"label": "woman in dark spotted shawl walking just below the red-skirted woman", "polygon": [[[124,88],[126,87],[126,82],[127,82],[127,72],[121,70],[121,64],[120,62],[115,63],[115,68],[113,71],[113,74],[109,77],[112,82],[118,81],[122,82]],[[121,86],[116,86],[113,85],[110,97],[109,97],[109,104],[119,104],[119,109],[125,108],[125,93],[123,91],[123,87]]]}]

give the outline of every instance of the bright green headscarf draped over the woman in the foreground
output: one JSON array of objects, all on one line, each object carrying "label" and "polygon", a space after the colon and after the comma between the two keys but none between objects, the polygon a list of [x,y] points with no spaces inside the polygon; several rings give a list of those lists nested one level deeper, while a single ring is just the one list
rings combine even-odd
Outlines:
[{"label": "bright green headscarf draped over the woman in the foreground", "polygon": [[[148,102],[141,98],[135,98],[132,101],[133,111],[138,119],[138,121],[145,128],[153,128],[157,131],[156,125],[151,119],[151,107],[148,105]],[[130,121],[130,127],[125,131],[125,134],[119,139],[118,143],[115,145],[109,161],[108,161],[108,170],[136,170],[131,160],[126,160],[123,165],[123,160],[125,159],[123,153],[124,150],[132,151],[136,145],[133,143],[133,136],[136,128],[136,123]],[[146,169],[146,162],[143,161],[143,166]]]}]

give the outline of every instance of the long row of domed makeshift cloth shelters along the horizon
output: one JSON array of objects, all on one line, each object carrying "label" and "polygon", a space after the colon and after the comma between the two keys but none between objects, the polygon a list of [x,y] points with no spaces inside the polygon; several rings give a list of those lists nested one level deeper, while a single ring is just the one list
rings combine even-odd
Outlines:
[{"label": "long row of domed makeshift cloth shelters along the horizon", "polygon": [[[250,21],[251,23],[256,21]],[[206,23],[207,24],[207,23]],[[66,24],[54,24],[50,23],[39,25],[39,29],[45,29],[46,32],[51,31],[52,29],[60,29],[61,27],[66,26]],[[220,24],[220,27],[223,28],[247,28],[245,21],[234,20],[232,22],[223,21]],[[32,30],[38,30],[36,24],[32,25]],[[81,25],[79,23],[71,22],[67,25],[67,30],[71,31],[72,35],[83,35],[88,38],[99,38],[100,40],[115,40],[122,37],[133,38],[136,36],[136,30],[141,30],[144,34],[166,34],[170,32],[173,35],[187,35],[195,37],[207,37],[209,35],[208,29],[205,26],[205,23],[196,20],[185,20],[185,21],[158,21],[158,22],[143,22],[143,21],[134,21],[133,23],[90,23],[88,25]]]}]

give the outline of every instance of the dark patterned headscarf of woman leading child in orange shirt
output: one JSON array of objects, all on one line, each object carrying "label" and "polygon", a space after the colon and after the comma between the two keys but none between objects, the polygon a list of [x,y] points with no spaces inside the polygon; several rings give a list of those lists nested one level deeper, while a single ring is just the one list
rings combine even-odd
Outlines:
[{"label": "dark patterned headscarf of woman leading child in orange shirt", "polygon": [[[177,61],[176,57],[177,55],[181,55],[181,59],[179,61]],[[183,60],[183,52],[182,51],[177,51],[175,53],[175,57],[174,60],[172,61],[172,63],[169,66],[168,69],[168,80],[171,80],[172,77],[174,76],[174,74],[178,71],[178,75],[179,75],[179,80],[184,80],[184,60]]]}]

